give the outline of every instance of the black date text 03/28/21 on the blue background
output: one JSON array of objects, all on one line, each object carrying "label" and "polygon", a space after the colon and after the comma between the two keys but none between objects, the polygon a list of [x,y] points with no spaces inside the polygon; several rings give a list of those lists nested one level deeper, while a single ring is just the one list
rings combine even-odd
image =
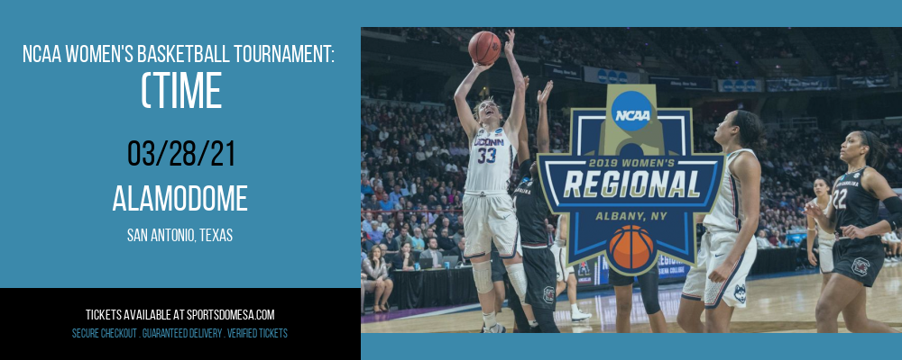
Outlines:
[{"label": "black date text 03/28/21 on the blue background", "polygon": [[[179,140],[169,141],[166,140],[163,142],[162,148],[160,148],[160,155],[155,154],[154,145],[152,140],[146,140],[143,143],[138,142],[138,140],[132,140],[128,142],[128,164],[131,166],[138,166],[140,164],[144,164],[146,166],[159,166],[160,160],[163,158],[163,155],[166,153],[166,148],[170,149],[170,153],[174,152],[172,157],[170,157],[169,165],[170,166],[200,166],[204,161],[204,156],[207,155],[207,148],[210,149],[211,155],[213,155],[213,159],[210,162],[212,166],[223,166],[224,159],[219,158],[223,155],[223,149],[228,147],[228,166],[235,166],[235,141],[229,141],[225,145],[220,140],[214,140],[213,145],[210,146],[210,140],[207,140],[207,143],[204,144],[204,149],[200,151],[200,155],[195,155],[195,151],[198,149],[197,145],[195,145],[194,141],[187,140],[184,143]],[[216,150],[218,148],[218,150]],[[216,151],[216,154],[212,154],[213,151]],[[166,163],[163,162],[165,165]]]}]

